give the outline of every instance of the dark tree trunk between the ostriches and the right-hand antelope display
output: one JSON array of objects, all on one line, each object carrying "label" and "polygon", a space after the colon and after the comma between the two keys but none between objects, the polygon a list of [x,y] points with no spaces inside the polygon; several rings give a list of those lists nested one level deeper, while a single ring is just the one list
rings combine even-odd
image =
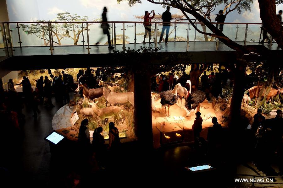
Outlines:
[{"label": "dark tree trunk between the ostriches and the right-hand antelope display", "polygon": [[239,129],[241,117],[241,104],[245,92],[245,72],[247,62],[244,60],[237,60],[234,79],[233,95],[230,104],[229,127],[232,129]]}]

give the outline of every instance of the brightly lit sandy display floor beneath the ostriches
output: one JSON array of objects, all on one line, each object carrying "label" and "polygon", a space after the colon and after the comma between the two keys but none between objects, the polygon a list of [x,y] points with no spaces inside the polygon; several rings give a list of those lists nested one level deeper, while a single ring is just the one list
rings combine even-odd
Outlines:
[{"label": "brightly lit sandy display floor beneath the ostriches", "polygon": [[[155,107],[158,112],[152,114],[153,140],[154,147],[159,147],[160,144],[176,142],[176,141],[193,141],[192,125],[195,120],[195,112],[191,117],[186,117],[184,109],[185,99],[182,99],[182,107],[180,101],[175,105],[170,106],[170,117],[165,120],[165,112],[163,112],[160,104],[160,99],[155,101]],[[200,108],[201,117],[203,118],[203,131],[200,136],[207,138],[208,127],[212,127],[212,117],[215,117],[212,103],[204,101]],[[221,124],[221,122],[219,122]],[[159,143],[158,143],[159,142]]]}]

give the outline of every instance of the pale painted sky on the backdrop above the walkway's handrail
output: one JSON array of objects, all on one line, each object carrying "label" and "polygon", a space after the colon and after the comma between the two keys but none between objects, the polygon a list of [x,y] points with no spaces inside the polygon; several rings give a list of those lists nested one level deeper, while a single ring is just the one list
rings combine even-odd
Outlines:
[{"label": "pale painted sky on the backdrop above the walkway's handrail", "polygon": [[[136,21],[134,15],[143,15],[145,10],[155,10],[160,14],[164,12],[161,6],[146,0],[132,8],[126,2],[117,4],[115,0],[7,0],[7,6],[10,21],[51,20],[57,13],[65,11],[94,19],[100,17],[104,6],[108,8],[108,21]],[[219,6],[219,10],[223,8],[223,5]],[[282,9],[283,5],[277,6],[277,12]],[[171,13],[181,14],[177,9],[171,10]],[[234,11],[228,14],[225,21],[261,23],[258,1],[252,4],[251,12],[243,11],[239,15]]]}]

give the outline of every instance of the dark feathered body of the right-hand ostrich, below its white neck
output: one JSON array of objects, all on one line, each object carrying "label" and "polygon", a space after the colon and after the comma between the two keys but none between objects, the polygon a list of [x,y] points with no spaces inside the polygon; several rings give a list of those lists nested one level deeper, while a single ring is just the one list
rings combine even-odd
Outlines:
[{"label": "dark feathered body of the right-hand ostrich, below its white neck", "polygon": [[192,92],[186,99],[185,110],[186,116],[191,116],[196,109],[199,111],[200,104],[206,99],[206,94],[203,91],[197,90]]}]

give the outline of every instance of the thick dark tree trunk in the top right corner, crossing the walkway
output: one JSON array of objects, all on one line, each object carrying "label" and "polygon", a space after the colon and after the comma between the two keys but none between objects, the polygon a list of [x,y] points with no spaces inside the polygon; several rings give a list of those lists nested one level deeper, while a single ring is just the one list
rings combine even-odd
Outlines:
[{"label": "thick dark tree trunk in the top right corner, crossing the walkway", "polygon": [[275,0],[258,0],[260,18],[264,28],[275,39],[278,46],[283,50],[283,27],[276,15]]}]

